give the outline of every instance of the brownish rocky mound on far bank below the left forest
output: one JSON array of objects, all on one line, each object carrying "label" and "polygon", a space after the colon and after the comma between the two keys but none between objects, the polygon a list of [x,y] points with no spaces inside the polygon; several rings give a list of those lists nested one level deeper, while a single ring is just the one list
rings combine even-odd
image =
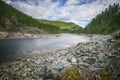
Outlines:
[{"label": "brownish rocky mound on far bank below the left forest", "polygon": [[0,38],[38,38],[48,36],[42,29],[20,28],[16,31],[0,31]]}]

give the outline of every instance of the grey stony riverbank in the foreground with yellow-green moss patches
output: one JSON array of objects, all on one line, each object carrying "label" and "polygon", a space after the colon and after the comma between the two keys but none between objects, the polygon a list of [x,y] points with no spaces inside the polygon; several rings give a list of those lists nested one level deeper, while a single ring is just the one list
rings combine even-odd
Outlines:
[{"label": "grey stony riverbank in the foreground with yellow-green moss patches", "polygon": [[120,80],[120,38],[90,42],[0,65],[0,80]]}]

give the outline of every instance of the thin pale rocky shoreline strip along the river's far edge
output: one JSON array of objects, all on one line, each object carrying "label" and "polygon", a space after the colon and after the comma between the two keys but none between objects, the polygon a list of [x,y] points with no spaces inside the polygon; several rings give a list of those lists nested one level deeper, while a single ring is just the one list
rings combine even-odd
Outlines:
[{"label": "thin pale rocky shoreline strip along the river's far edge", "polygon": [[[74,33],[59,33],[59,34],[34,34],[34,33],[21,33],[21,32],[5,32],[0,31],[0,39],[22,39],[22,38],[46,38],[46,37],[59,37],[62,34],[74,34]],[[94,34],[75,34],[92,37]]]}]

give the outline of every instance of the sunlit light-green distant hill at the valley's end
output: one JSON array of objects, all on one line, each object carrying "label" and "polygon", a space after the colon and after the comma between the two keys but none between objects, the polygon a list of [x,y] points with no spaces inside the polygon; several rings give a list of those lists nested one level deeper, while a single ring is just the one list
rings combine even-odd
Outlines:
[{"label": "sunlit light-green distant hill at the valley's end", "polygon": [[38,21],[42,24],[57,26],[61,29],[61,32],[81,33],[83,31],[82,27],[72,22],[50,21],[50,20],[43,20],[43,19],[41,20],[38,19]]}]

